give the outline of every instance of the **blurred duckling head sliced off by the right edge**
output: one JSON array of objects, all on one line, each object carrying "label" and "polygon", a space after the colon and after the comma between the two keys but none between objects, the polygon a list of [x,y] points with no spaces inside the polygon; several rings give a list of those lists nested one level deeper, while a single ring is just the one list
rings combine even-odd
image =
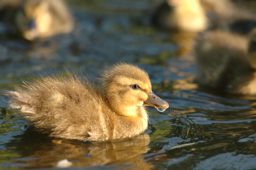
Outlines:
[{"label": "blurred duckling head sliced off by the right edge", "polygon": [[250,65],[256,69],[256,28],[254,28],[250,33],[247,57]]}]

